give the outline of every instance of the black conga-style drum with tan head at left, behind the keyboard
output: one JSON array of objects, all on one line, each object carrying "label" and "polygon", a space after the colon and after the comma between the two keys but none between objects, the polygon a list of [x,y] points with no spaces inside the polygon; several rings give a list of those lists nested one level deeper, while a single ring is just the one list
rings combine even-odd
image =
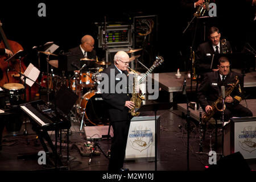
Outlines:
[{"label": "black conga-style drum with tan head at left, behind the keyboard", "polygon": [[22,101],[22,94],[24,94],[24,86],[22,84],[9,83],[3,85],[3,88],[6,89],[7,94],[10,98],[11,105],[19,105]]}]

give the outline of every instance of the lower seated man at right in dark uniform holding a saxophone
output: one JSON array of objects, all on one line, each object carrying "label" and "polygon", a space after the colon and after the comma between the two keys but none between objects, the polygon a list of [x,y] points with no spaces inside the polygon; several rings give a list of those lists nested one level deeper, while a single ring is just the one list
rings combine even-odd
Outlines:
[{"label": "lower seated man at right in dark uniform holding a saxophone", "polygon": [[[199,104],[207,114],[216,110],[216,108],[213,108],[214,102],[216,102],[222,95],[221,86],[225,86],[225,92],[228,94],[230,84],[236,83],[237,81],[236,76],[238,76],[238,79],[242,81],[242,79],[239,78],[241,76],[239,73],[230,71],[228,57],[220,57],[217,67],[218,71],[205,74],[204,80],[199,86],[199,90],[197,92]],[[242,101],[242,90],[240,85],[242,84],[237,84],[233,91],[225,97],[226,107],[224,110],[224,122],[227,122],[229,118],[232,117],[250,117],[253,115],[249,109],[240,104]],[[222,107],[218,108],[222,109]],[[220,119],[221,113],[221,111],[216,110],[213,118]],[[210,118],[208,118],[208,120],[209,119]]]}]

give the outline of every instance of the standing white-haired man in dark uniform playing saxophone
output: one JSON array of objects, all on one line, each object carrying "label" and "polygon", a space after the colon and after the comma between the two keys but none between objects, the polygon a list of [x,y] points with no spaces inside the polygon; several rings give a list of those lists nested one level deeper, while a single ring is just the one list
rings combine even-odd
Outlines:
[{"label": "standing white-haired man in dark uniform playing saxophone", "polygon": [[130,101],[131,94],[128,89],[127,68],[129,62],[129,55],[124,51],[118,51],[114,55],[114,63],[103,72],[108,79],[102,77],[101,81],[102,87],[104,87],[101,88],[102,98],[108,105],[110,125],[113,127],[114,134],[108,169],[115,172],[125,171],[122,167],[131,120],[129,110],[135,106],[134,102]]}]

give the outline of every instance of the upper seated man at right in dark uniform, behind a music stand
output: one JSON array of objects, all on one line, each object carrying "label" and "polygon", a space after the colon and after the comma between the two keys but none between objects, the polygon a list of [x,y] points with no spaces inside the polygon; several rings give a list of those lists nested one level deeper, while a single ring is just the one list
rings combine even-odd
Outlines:
[{"label": "upper seated man at right in dark uniform, behind a music stand", "polygon": [[232,53],[230,43],[226,41],[225,44],[221,43],[221,34],[217,27],[210,27],[208,32],[208,42],[201,43],[196,50],[196,72],[202,79],[204,74],[217,69],[211,69],[212,57],[218,53]]}]

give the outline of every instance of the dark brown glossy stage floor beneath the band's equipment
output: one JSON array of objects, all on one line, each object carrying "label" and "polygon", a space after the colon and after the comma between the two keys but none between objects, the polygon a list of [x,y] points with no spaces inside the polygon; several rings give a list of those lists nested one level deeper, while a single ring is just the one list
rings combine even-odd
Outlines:
[{"label": "dark brown glossy stage floor beneath the band's equipment", "polygon": [[[187,171],[187,132],[185,130],[186,122],[181,117],[180,110],[161,110],[160,115],[160,147],[158,152],[160,159],[157,162],[158,171]],[[154,115],[154,113],[152,113]],[[82,156],[79,150],[74,147],[76,143],[86,142],[84,131],[79,131],[80,123],[72,122],[72,133],[70,136],[69,153],[70,163],[69,170],[71,171],[106,171],[108,169],[109,159],[102,153],[99,156],[93,156],[91,164],[89,156]],[[189,142],[189,170],[204,171],[208,165],[209,157],[206,154],[197,154],[199,151],[199,133],[197,125],[191,123],[192,131]],[[31,130],[30,123],[27,124],[28,135],[23,135],[23,128],[16,136],[11,135],[6,130],[3,133],[3,146],[0,152],[0,171],[36,171],[54,168],[54,166],[44,166],[38,164],[38,156],[36,158],[28,158],[26,160],[18,159],[17,156],[25,153],[37,153],[42,150],[39,140],[36,139],[36,134]],[[213,131],[207,130],[204,142],[204,152],[209,152],[209,134]],[[64,137],[65,135],[63,135]],[[54,133],[51,134],[54,141]],[[221,152],[221,132],[218,131],[218,145],[213,145],[213,150]],[[101,149],[106,154],[110,149],[111,139],[103,139],[98,141]],[[214,139],[212,139],[214,144]],[[61,151],[63,155],[63,163],[67,160],[64,158],[67,155],[67,147],[64,145]],[[219,157],[217,158],[219,159]],[[250,162],[251,169],[256,170],[256,163]],[[123,166],[129,168],[130,171],[154,171],[155,163],[147,160],[125,162]]]}]

